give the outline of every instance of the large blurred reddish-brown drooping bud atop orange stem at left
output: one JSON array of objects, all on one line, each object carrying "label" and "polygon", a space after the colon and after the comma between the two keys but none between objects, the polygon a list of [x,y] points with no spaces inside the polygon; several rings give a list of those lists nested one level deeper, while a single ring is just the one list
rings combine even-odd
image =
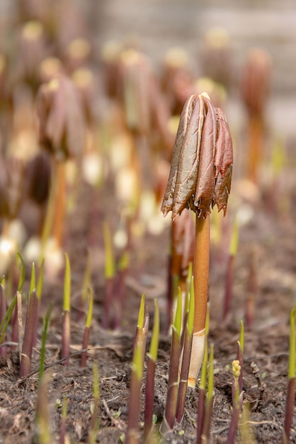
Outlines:
[{"label": "large blurred reddish-brown drooping bud atop orange stem at left", "polygon": [[84,115],[73,82],[60,74],[42,84],[37,111],[41,145],[57,158],[78,156],[84,144]]}]

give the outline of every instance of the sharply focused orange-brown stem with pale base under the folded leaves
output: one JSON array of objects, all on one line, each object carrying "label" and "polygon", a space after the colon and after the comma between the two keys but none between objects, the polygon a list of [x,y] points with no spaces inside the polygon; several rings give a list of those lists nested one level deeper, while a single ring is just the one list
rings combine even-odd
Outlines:
[{"label": "sharply focused orange-brown stem with pale base under the folded leaves", "polygon": [[195,315],[193,343],[188,374],[188,386],[195,387],[196,379],[203,362],[205,346],[205,318],[207,316],[207,296],[210,269],[210,215],[195,218],[195,250],[193,259],[193,284],[195,294]]}]

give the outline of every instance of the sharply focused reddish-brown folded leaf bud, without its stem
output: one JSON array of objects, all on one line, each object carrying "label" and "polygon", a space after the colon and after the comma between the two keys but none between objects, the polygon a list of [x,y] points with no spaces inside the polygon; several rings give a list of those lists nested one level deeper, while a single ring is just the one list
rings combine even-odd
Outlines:
[{"label": "sharply focused reddish-brown folded leaf bud, without its stem", "polygon": [[181,113],[161,211],[174,219],[184,208],[198,217],[227,208],[232,179],[232,138],[227,120],[207,94],[190,96]]}]

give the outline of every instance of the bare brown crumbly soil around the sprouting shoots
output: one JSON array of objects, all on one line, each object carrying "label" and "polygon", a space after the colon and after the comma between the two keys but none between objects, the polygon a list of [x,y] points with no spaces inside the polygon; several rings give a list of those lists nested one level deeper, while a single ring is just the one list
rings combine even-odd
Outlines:
[{"label": "bare brown crumbly soil around the sprouting shoots", "polygon": [[[292,168],[295,169],[295,158],[292,158],[290,165],[291,170],[283,174],[286,179],[285,184],[290,184],[288,177],[294,177]],[[244,211],[251,216],[239,231],[239,249],[234,260],[231,308],[229,316],[224,321],[222,321],[222,311],[231,218],[226,217],[223,223],[222,241],[212,242],[209,333],[209,343],[215,348],[215,394],[210,428],[212,444],[227,443],[232,416],[231,365],[232,360],[237,357],[241,320],[245,321],[246,314],[252,310],[254,314],[251,325],[247,326],[245,323],[243,366],[243,404],[249,413],[241,418],[241,424],[244,424],[240,426],[240,431],[247,429],[249,438],[243,441],[238,433],[236,442],[274,444],[282,441],[288,389],[290,310],[295,307],[296,302],[296,196],[290,186],[285,188],[285,184],[268,192],[260,189],[258,198],[252,199],[240,194],[241,182],[237,178],[234,180],[233,199],[234,201],[240,199],[244,204]],[[170,354],[170,335],[166,316],[169,226],[166,226],[159,235],[144,231],[144,235],[135,235],[132,238],[121,326],[116,331],[103,328],[105,279],[102,222],[107,219],[115,230],[120,221],[120,211],[115,204],[113,191],[110,184],[105,184],[102,189],[94,192],[89,185],[82,183],[78,190],[76,209],[67,220],[64,250],[68,252],[72,266],[71,352],[73,355],[70,357],[69,366],[60,362],[63,271],[55,278],[45,276],[40,303],[38,343],[33,350],[32,374],[20,377],[18,350],[8,347],[6,355],[0,356],[0,444],[33,442],[38,402],[42,318],[50,301],[54,301],[55,305],[46,345],[45,374],[49,375],[47,399],[42,401],[47,404],[50,413],[52,443],[58,443],[60,439],[63,398],[67,399],[68,442],[88,442],[93,406],[93,362],[98,363],[100,386],[96,442],[101,444],[123,442],[129,406],[132,345],[143,292],[146,294],[150,324],[153,319],[154,298],[158,299],[161,311],[161,335],[154,396],[156,431],[161,424],[166,402]],[[231,206],[231,203],[229,204]],[[232,216],[231,210],[229,214]],[[81,367],[79,350],[84,335],[85,315],[84,312],[81,313],[77,301],[81,294],[89,250],[94,307],[86,367]],[[252,267],[255,267],[254,279],[257,282],[254,294],[249,289]],[[25,292],[28,292],[30,264],[27,264],[26,271]],[[249,305],[249,309],[246,308],[248,301],[253,304],[251,308]],[[151,325],[148,345],[150,332]],[[252,370],[254,364],[257,372]],[[143,401],[144,394],[143,384]],[[141,410],[141,427],[144,418],[143,405],[144,403]],[[180,426],[176,426],[167,438],[167,442],[195,443],[197,416],[198,387],[188,390],[183,422]],[[158,438],[159,442],[166,441],[165,438],[159,436]],[[296,443],[295,411],[290,442]]]}]

